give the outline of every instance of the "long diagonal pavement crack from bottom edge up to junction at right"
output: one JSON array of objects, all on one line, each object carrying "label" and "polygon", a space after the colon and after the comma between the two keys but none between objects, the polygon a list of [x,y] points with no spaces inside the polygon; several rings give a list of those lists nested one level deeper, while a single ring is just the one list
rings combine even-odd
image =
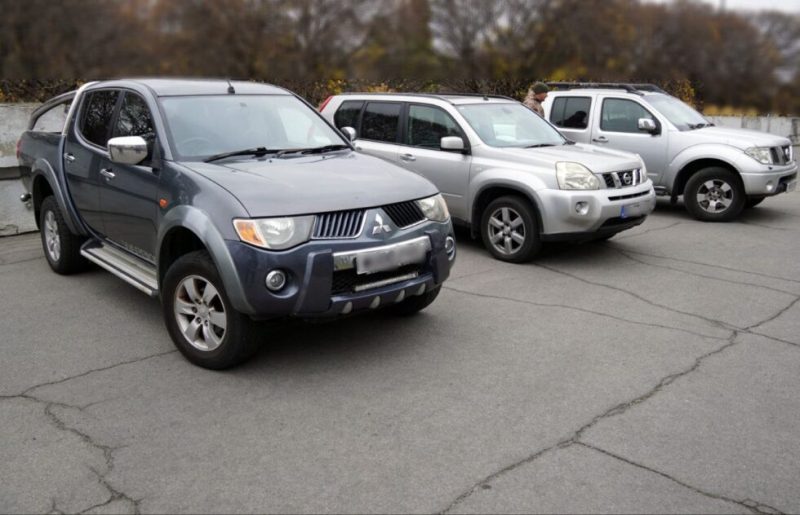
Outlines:
[{"label": "long diagonal pavement crack from bottom edge up to junction at right", "polygon": [[659,393],[662,389],[664,389],[665,387],[667,387],[670,384],[674,383],[676,380],[680,379],[681,377],[684,377],[684,376],[686,376],[688,374],[691,374],[692,372],[696,371],[697,369],[700,368],[700,365],[703,363],[704,360],[708,359],[711,356],[715,356],[717,354],[720,354],[720,353],[724,352],[725,350],[733,347],[734,345],[737,345],[736,339],[737,339],[738,335],[739,335],[739,332],[738,331],[734,331],[734,333],[731,335],[731,337],[727,339],[727,343],[725,343],[725,345],[723,345],[723,346],[721,346],[721,347],[719,347],[719,348],[717,348],[717,349],[715,349],[713,351],[707,352],[706,354],[703,354],[702,356],[696,358],[695,362],[692,364],[691,367],[689,367],[689,368],[687,368],[687,369],[685,369],[685,370],[683,370],[681,372],[676,372],[676,373],[673,373],[673,374],[669,374],[666,377],[663,377],[661,380],[658,381],[658,383],[656,383],[656,385],[653,388],[651,388],[650,390],[648,390],[644,394],[639,395],[638,397],[635,397],[635,398],[633,398],[633,399],[631,399],[629,401],[619,403],[616,406],[614,406],[614,407],[606,410],[605,412],[601,413],[600,415],[595,416],[589,422],[587,422],[586,424],[584,424],[583,426],[578,428],[577,431],[572,433],[570,436],[560,440],[556,444],[551,445],[551,446],[549,446],[549,447],[547,447],[545,449],[538,450],[538,451],[536,451],[536,452],[534,452],[532,454],[527,455],[525,458],[523,458],[521,460],[518,460],[518,461],[516,461],[516,462],[514,462],[514,463],[512,463],[510,465],[507,465],[507,466],[501,468],[500,470],[492,472],[491,474],[489,474],[488,476],[484,477],[480,481],[474,483],[471,487],[466,489],[460,495],[458,495],[453,501],[451,501],[447,505],[447,507],[445,507],[443,510],[439,511],[438,513],[446,514],[446,513],[451,512],[456,506],[458,506],[464,500],[466,500],[467,498],[472,496],[472,494],[474,494],[481,486],[487,484],[489,481],[492,481],[492,480],[494,480],[494,479],[496,479],[496,478],[498,478],[500,476],[503,476],[503,475],[511,472],[512,470],[516,470],[517,468],[519,468],[519,467],[521,467],[521,466],[523,466],[525,464],[531,463],[531,462],[535,461],[536,459],[538,459],[539,457],[541,457],[543,454],[545,454],[545,453],[547,453],[547,452],[549,452],[549,451],[551,451],[553,449],[568,447],[568,446],[576,444],[576,443],[582,443],[582,442],[580,442],[580,438],[581,438],[581,436],[583,436],[583,434],[588,429],[590,429],[593,426],[595,426],[596,424],[598,424],[601,420],[604,420],[604,419],[607,419],[607,418],[611,418],[611,417],[615,417],[615,416],[618,416],[618,415],[622,415],[623,413],[627,412],[632,407],[634,407],[634,406],[636,406],[638,404],[641,404],[642,402],[645,402],[646,400],[650,399],[651,397],[653,397],[654,395]]}]

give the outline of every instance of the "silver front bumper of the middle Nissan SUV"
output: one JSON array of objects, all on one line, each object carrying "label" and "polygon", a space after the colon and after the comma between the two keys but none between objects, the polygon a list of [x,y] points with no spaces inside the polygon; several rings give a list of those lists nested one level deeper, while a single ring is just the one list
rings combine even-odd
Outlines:
[{"label": "silver front bumper of the middle Nissan SUV", "polygon": [[548,189],[537,194],[543,241],[593,239],[624,231],[641,224],[656,206],[651,181],[629,188]]}]

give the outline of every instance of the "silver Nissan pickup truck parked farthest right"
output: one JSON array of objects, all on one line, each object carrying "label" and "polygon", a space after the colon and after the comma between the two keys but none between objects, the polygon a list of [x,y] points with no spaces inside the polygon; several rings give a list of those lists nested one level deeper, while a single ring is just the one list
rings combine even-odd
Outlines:
[{"label": "silver Nissan pickup truck parked farthest right", "polygon": [[715,127],[650,84],[551,83],[545,116],[568,138],[642,156],[658,194],[695,218],[727,222],[797,186],[788,138]]}]

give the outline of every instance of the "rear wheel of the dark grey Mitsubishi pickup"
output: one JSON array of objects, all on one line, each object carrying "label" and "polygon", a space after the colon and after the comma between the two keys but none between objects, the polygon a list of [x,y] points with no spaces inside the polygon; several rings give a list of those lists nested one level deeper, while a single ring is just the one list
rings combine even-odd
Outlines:
[{"label": "rear wheel of the dark grey Mitsubishi pickup", "polygon": [[55,273],[69,275],[87,268],[88,261],[81,256],[84,239],[70,232],[52,195],[42,201],[39,229],[44,257]]}]

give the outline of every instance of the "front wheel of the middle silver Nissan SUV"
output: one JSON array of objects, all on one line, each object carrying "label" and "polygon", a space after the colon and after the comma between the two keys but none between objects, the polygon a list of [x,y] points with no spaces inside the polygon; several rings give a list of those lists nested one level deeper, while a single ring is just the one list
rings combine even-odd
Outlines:
[{"label": "front wheel of the middle silver Nissan SUV", "polygon": [[486,206],[481,237],[492,256],[509,263],[530,261],[542,248],[533,207],[517,196],[499,197]]}]

